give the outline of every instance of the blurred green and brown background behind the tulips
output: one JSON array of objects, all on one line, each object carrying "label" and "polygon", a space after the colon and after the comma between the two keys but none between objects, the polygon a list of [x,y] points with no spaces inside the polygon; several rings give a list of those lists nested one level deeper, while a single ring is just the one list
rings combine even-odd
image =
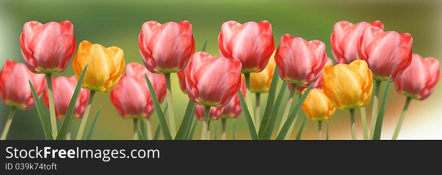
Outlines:
[{"label": "blurred green and brown background behind the tulips", "polygon": [[[229,20],[240,23],[268,20],[273,27],[275,44],[283,34],[291,34],[306,40],[321,40],[326,44],[327,55],[333,58],[330,47],[330,34],[339,21],[358,23],[380,20],[386,31],[410,33],[413,36],[413,52],[423,57],[442,58],[441,3],[438,1],[1,1],[0,2],[0,63],[13,59],[23,63],[20,53],[19,36],[23,24],[36,20],[41,23],[69,20],[74,25],[77,44],[82,40],[99,43],[106,47],[118,46],[124,49],[127,63],[142,63],[139,54],[138,35],[141,25],[150,20],[166,23],[169,21],[190,21],[196,48],[199,50],[208,38],[207,52],[219,55],[217,36],[221,25]],[[71,66],[63,73],[54,76],[72,76]],[[384,83],[385,84],[385,83]],[[384,86],[384,84],[382,86]],[[182,119],[187,95],[178,86],[176,74],[172,75],[177,126]],[[425,101],[411,102],[403,122],[399,139],[442,139],[442,85],[437,85],[433,94]],[[382,89],[381,89],[382,92]],[[281,105],[283,110],[288,92]],[[265,104],[266,95],[261,104]],[[391,85],[387,112],[382,132],[383,139],[390,139],[405,97],[396,93]],[[109,93],[95,95],[91,115],[102,106],[93,139],[132,139],[132,121],[117,114],[109,101]],[[163,104],[164,106],[164,104]],[[0,128],[3,129],[9,113],[9,106],[0,103]],[[264,106],[262,111],[264,110]],[[371,111],[371,104],[367,107]],[[280,112],[282,114],[282,112]],[[357,111],[358,138],[362,138],[361,120]],[[368,123],[370,124],[370,112]],[[278,127],[279,116],[275,130]],[[301,117],[299,117],[301,118]],[[92,117],[89,117],[91,120]],[[156,127],[158,118],[152,116]],[[300,121],[300,120],[298,120]],[[72,134],[75,136],[80,123],[74,120]],[[249,139],[245,117],[237,120],[237,139]],[[300,122],[298,122],[299,124]],[[59,125],[61,122],[59,121]],[[198,124],[194,138],[201,132]],[[228,121],[228,138],[232,136],[232,121]],[[211,128],[214,128],[212,122]],[[296,135],[292,133],[292,138]],[[155,129],[155,128],[154,128]],[[220,122],[217,122],[220,134]],[[323,128],[324,130],[325,128]],[[211,131],[212,138],[214,131]],[[325,135],[325,133],[323,133]],[[218,136],[219,137],[219,136]],[[307,121],[302,139],[316,139],[316,122]],[[11,125],[9,139],[44,139],[43,130],[35,108],[18,110]],[[337,111],[330,121],[330,139],[350,139],[348,111]]]}]

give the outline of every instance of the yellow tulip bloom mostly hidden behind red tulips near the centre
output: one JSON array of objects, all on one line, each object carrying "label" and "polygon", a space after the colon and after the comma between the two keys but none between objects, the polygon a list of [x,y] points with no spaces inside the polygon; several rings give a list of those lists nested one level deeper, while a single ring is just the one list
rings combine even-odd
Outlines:
[{"label": "yellow tulip bloom mostly hidden behind red tulips near the centre", "polygon": [[250,87],[253,93],[267,93],[270,90],[270,83],[272,82],[273,72],[275,71],[275,52],[270,57],[266,68],[258,73],[250,74]]}]

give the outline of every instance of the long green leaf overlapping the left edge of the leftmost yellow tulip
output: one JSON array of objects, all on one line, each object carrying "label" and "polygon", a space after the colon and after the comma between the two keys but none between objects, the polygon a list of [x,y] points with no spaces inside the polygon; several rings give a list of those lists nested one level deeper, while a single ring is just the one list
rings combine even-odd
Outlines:
[{"label": "long green leaf overlapping the left edge of the leftmost yellow tulip", "polygon": [[75,90],[74,93],[72,94],[69,106],[67,107],[63,123],[61,124],[60,130],[58,131],[57,140],[66,138],[66,134],[69,131],[69,127],[71,126],[72,122],[72,115],[74,113],[75,104],[77,103],[78,95],[80,94],[81,84],[83,84],[84,75],[86,75],[86,69],[87,65],[84,67],[83,71],[81,71],[80,78],[78,78],[78,82],[77,85],[75,86]]}]

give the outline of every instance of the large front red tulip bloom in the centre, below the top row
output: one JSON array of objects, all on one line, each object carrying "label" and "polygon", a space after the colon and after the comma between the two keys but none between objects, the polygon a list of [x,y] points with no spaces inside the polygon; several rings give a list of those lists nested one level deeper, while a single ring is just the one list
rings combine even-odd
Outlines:
[{"label": "large front red tulip bloom in the centre, below the top row", "polygon": [[187,95],[195,104],[223,107],[241,87],[241,62],[196,52],[186,75]]}]

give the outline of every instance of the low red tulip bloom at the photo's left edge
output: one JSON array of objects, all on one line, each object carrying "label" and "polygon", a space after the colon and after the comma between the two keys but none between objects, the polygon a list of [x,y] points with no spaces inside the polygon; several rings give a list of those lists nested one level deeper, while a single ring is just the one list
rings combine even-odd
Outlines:
[{"label": "low red tulip bloom at the photo's left edge", "polygon": [[46,85],[45,76],[32,73],[24,64],[7,60],[0,71],[0,92],[3,102],[24,110],[34,106],[29,80],[40,96]]}]

